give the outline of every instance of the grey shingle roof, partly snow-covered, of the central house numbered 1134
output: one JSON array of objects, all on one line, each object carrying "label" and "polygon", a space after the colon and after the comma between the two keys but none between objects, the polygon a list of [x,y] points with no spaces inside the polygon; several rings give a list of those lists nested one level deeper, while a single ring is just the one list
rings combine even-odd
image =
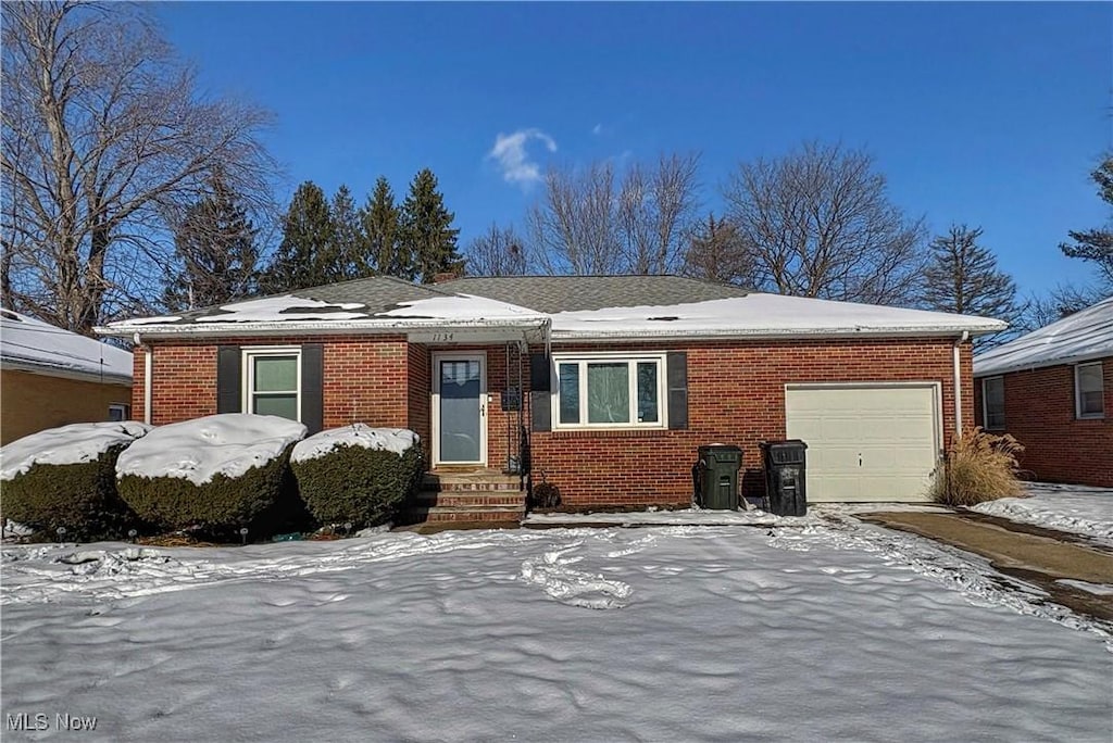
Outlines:
[{"label": "grey shingle roof, partly snow-covered, of the central house numbered 1134", "polygon": [[[550,281],[549,279],[561,279]],[[677,276],[500,277],[418,287],[375,277],[165,318],[112,323],[98,331],[130,336],[408,333],[518,329],[531,341],[622,338],[938,336],[997,333],[999,320],[897,307],[746,293]],[[649,279],[653,279],[650,281]],[[629,279],[629,280],[627,280]],[[453,284],[483,294],[453,294]],[[501,291],[500,287],[514,289]],[[536,290],[532,308],[529,291]],[[706,287],[707,291],[700,291]],[[521,290],[520,290],[521,289]],[[611,304],[608,290],[614,290]],[[491,297],[486,291],[498,295]],[[560,301],[554,297],[560,298]],[[638,304],[636,297],[643,297]],[[357,301],[364,298],[366,301]],[[513,298],[513,301],[510,299]],[[568,307],[553,311],[553,307]],[[549,329],[551,326],[551,334]],[[522,337],[519,335],[518,337]],[[461,340],[462,338],[455,338]]]}]

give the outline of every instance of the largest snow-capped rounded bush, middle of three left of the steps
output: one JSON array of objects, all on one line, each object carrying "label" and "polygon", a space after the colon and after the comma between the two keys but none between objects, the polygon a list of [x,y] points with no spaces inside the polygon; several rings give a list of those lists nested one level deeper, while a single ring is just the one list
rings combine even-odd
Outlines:
[{"label": "largest snow-capped rounded bush, middle of three left of the steps", "polygon": [[305,434],[295,420],[243,413],[160,426],[117,460],[117,487],[159,526],[257,536],[301,509],[288,462]]}]

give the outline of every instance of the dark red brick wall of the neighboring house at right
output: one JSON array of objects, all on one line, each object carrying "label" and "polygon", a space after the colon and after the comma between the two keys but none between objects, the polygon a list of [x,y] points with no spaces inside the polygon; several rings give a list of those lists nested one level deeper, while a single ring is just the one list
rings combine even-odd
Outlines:
[{"label": "dark red brick wall of the neighboring house at right", "polygon": [[[1074,367],[1051,366],[1003,375],[1005,428],[1025,446],[1021,467],[1037,481],[1113,487],[1113,357],[1102,360],[1105,418],[1080,420]],[[976,386],[977,422],[982,384]]]}]

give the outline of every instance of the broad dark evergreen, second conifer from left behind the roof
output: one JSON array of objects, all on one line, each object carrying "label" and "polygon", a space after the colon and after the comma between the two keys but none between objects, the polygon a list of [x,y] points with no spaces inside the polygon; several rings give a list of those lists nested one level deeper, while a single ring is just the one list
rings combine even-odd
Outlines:
[{"label": "broad dark evergreen, second conifer from left behind the roof", "polygon": [[332,209],[312,180],[294,191],[283,219],[283,238],[262,280],[267,294],[319,286],[341,278],[333,254]]}]

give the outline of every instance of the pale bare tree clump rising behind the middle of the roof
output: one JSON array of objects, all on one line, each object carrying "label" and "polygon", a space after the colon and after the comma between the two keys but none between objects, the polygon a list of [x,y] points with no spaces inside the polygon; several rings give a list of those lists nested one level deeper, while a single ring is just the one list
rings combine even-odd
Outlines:
[{"label": "pale bare tree clump rising behind the middle of the roof", "polygon": [[549,274],[679,270],[699,206],[699,156],[662,155],[619,174],[611,161],[550,168],[526,222]]}]

